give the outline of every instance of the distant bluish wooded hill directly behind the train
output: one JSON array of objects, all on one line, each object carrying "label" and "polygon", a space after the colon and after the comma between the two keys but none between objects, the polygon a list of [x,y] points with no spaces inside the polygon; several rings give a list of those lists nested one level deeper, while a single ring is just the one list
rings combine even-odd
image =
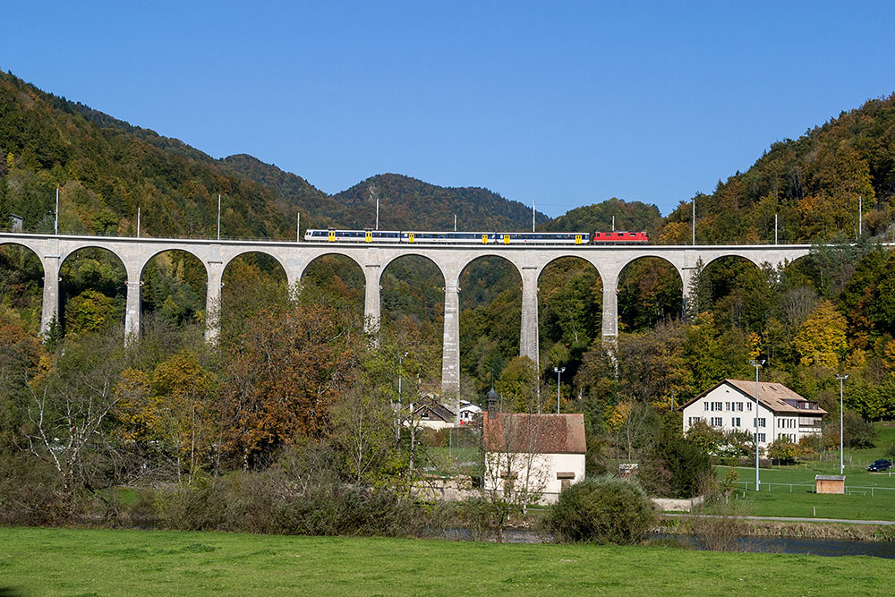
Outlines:
[{"label": "distant bluish wooded hill directly behind the train", "polygon": [[[380,228],[452,230],[531,230],[532,209],[480,187],[441,187],[404,175],[368,178],[333,195],[342,206],[334,214],[344,226],[373,226],[379,198]],[[548,217],[537,213],[537,222]]]}]

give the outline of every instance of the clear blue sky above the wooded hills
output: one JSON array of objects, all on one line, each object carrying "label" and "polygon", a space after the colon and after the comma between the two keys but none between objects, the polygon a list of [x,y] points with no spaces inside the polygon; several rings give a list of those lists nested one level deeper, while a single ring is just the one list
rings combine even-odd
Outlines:
[{"label": "clear blue sky above the wooded hills", "polygon": [[668,213],[895,90],[892,2],[0,0],[0,68],[338,192],[384,172]]}]

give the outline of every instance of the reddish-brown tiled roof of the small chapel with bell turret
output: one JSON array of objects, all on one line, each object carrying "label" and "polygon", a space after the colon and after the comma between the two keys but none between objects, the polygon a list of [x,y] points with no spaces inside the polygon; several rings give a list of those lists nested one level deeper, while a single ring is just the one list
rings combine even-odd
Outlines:
[{"label": "reddish-brown tiled roof of the small chapel with bell turret", "polygon": [[485,450],[584,454],[584,414],[509,414],[482,417]]}]

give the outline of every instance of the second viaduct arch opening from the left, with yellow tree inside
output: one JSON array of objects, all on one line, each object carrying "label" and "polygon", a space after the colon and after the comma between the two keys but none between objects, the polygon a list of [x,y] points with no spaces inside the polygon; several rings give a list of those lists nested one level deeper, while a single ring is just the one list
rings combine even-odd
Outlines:
[{"label": "second viaduct arch opening from the left, with yellow tree inside", "polygon": [[[79,253],[83,261],[75,269]],[[66,334],[97,331],[113,319],[124,321],[128,282],[134,274],[129,265],[118,252],[102,244],[86,244],[60,254],[58,319]],[[76,298],[78,312],[67,312]]]}]

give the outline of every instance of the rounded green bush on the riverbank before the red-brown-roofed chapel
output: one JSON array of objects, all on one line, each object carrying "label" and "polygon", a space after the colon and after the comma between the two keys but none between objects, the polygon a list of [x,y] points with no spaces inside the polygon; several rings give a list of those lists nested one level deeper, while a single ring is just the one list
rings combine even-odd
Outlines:
[{"label": "rounded green bush on the riverbank before the red-brown-roofed chapel", "polygon": [[609,475],[575,483],[559,494],[545,529],[561,542],[629,545],[643,541],[656,514],[644,490]]}]

